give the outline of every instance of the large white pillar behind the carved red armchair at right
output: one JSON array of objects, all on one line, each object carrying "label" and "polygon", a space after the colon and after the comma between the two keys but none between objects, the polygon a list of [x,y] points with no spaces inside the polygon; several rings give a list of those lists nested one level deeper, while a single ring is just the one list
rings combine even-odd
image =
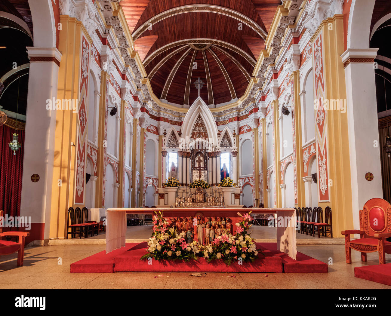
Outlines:
[{"label": "large white pillar behind the carved red armchair at right", "polygon": [[[352,183],[352,210],[354,229],[359,229],[359,213],[365,202],[372,197],[383,197],[380,150],[374,141],[379,141],[376,111],[375,70],[369,60],[375,58],[377,48],[348,49],[342,54],[345,67],[346,113],[350,175]],[[366,63],[356,63],[356,58],[365,58]],[[380,68],[380,66],[379,66]],[[365,78],[365,80],[362,80]],[[363,128],[365,127],[365,128]],[[367,181],[368,167],[373,180]]]}]

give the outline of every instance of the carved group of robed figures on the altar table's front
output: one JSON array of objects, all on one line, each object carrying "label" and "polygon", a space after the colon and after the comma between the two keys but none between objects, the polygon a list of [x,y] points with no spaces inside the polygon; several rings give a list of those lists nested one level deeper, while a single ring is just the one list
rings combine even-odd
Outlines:
[{"label": "carved group of robed figures on the altar table's front", "polygon": [[175,227],[178,233],[186,233],[186,242],[197,241],[198,246],[212,244],[218,236],[232,233],[232,224],[229,217],[171,217],[170,227]]}]

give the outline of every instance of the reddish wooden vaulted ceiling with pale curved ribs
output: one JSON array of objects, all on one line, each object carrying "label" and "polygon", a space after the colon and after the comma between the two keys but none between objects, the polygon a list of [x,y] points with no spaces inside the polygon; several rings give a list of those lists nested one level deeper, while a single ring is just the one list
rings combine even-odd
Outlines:
[{"label": "reddish wooden vaulted ceiling with pale curved ribs", "polygon": [[[240,98],[280,0],[123,0],[154,94],[192,104]],[[241,23],[241,24],[239,24]]]}]

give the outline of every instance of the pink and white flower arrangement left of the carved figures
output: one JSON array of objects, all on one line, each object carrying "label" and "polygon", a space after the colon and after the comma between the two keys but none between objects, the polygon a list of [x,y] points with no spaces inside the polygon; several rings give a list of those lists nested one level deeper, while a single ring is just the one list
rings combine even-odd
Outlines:
[{"label": "pink and white flower arrangement left of the carved figures", "polygon": [[153,233],[148,241],[148,253],[141,257],[141,260],[153,258],[155,260],[197,260],[196,253],[199,253],[197,242],[187,243],[185,232],[177,232],[175,227],[170,227],[163,217],[163,211],[159,214],[155,211]]}]

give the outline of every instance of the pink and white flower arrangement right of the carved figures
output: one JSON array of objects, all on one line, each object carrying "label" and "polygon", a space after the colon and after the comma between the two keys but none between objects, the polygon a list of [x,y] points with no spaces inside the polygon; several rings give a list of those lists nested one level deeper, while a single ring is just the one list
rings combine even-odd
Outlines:
[{"label": "pink and white flower arrangement right of the carved figures", "polygon": [[[234,235],[223,234],[214,239],[211,245],[203,247],[204,259],[208,263],[213,260],[223,260],[229,266],[233,261],[254,261],[260,253],[260,249],[256,249],[254,239],[247,233],[251,226],[248,222],[251,221],[251,212],[248,214],[240,214],[242,221],[236,224]],[[262,252],[261,252],[262,253]]]}]

